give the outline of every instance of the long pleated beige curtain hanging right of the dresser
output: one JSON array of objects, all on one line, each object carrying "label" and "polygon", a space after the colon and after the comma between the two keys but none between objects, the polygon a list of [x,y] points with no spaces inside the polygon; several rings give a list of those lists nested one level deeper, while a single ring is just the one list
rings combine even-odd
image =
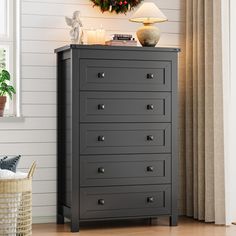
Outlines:
[{"label": "long pleated beige curtain hanging right of the dresser", "polygon": [[225,224],[220,6],[221,0],[186,0],[180,212]]}]

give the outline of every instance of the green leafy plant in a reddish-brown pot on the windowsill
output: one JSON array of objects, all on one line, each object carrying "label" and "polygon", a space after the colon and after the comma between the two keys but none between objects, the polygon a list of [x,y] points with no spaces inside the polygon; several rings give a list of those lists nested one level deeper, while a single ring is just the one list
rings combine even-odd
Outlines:
[{"label": "green leafy plant in a reddish-brown pot on the windowsill", "polygon": [[0,71],[0,116],[3,116],[7,96],[12,99],[13,94],[16,90],[13,86],[9,85],[8,82],[11,79],[11,75],[7,70]]}]

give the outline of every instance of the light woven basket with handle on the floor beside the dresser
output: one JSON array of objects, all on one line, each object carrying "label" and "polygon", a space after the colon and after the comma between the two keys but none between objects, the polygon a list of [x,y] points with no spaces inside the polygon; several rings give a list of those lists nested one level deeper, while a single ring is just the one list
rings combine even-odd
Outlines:
[{"label": "light woven basket with handle on the floor beside the dresser", "polygon": [[32,177],[36,164],[27,178],[0,180],[0,235],[32,235]]}]

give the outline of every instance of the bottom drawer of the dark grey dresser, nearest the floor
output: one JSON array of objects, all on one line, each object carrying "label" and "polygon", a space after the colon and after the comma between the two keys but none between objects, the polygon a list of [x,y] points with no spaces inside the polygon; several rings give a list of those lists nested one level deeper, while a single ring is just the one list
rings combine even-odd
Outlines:
[{"label": "bottom drawer of the dark grey dresser, nearest the floor", "polygon": [[80,218],[116,218],[170,214],[170,185],[80,189]]}]

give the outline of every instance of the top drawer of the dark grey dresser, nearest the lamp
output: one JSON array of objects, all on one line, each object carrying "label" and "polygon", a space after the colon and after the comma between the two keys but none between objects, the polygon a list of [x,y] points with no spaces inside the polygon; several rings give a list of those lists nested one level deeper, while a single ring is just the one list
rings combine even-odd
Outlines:
[{"label": "top drawer of the dark grey dresser, nearest the lamp", "polygon": [[171,62],[82,59],[80,89],[171,91]]}]

